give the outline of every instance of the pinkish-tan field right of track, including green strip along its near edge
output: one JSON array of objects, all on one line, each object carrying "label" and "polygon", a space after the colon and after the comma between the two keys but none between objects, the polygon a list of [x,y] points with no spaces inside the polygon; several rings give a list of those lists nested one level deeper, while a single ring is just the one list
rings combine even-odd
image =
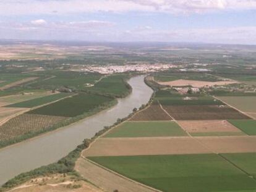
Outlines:
[{"label": "pinkish-tan field right of track, including green strip along its near edge", "polygon": [[181,120],[178,123],[192,136],[245,135],[227,120]]}]

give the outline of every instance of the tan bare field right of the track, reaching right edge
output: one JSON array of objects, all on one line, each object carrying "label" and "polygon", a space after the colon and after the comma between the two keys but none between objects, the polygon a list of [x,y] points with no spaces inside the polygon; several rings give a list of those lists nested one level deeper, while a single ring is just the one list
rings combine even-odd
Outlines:
[{"label": "tan bare field right of the track, reaching right edge", "polygon": [[256,136],[197,137],[197,140],[218,153],[256,152]]}]

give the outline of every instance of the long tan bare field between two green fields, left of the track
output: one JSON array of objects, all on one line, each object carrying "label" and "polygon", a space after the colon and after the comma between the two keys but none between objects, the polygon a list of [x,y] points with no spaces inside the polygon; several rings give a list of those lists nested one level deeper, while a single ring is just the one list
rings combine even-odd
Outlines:
[{"label": "long tan bare field between two green fields, left of the track", "polygon": [[137,156],[210,153],[190,137],[100,138],[83,156]]}]

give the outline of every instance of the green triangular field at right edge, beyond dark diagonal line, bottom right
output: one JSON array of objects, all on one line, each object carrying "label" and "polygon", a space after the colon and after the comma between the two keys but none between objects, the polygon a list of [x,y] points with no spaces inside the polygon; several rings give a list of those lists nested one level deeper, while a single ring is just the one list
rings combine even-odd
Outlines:
[{"label": "green triangular field at right edge, beyond dark diagonal line, bottom right", "polygon": [[229,161],[236,164],[242,170],[249,173],[250,175],[256,177],[256,153],[248,152],[248,153],[229,153],[222,154]]}]

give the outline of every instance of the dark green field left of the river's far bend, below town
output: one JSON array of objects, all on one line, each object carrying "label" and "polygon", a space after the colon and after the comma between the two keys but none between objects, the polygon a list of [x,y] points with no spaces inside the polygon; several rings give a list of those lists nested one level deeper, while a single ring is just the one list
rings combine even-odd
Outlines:
[{"label": "dark green field left of the river's far bend, below town", "polygon": [[88,88],[88,91],[111,94],[118,97],[126,96],[130,89],[125,81],[126,78],[126,75],[111,75],[105,77],[94,86]]}]

